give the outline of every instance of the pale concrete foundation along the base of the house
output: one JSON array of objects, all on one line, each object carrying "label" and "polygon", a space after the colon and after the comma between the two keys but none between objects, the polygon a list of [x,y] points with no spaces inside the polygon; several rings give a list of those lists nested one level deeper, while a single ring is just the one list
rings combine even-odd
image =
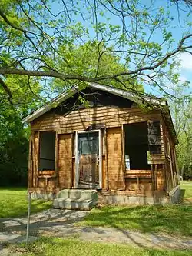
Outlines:
[{"label": "pale concrete foundation along the base of the house", "polygon": [[[66,193],[69,193],[67,196]],[[78,189],[66,189],[62,191],[33,191],[31,192],[31,199],[33,200],[55,200],[56,198],[71,198],[70,194],[72,194],[73,201],[70,202],[60,202],[55,201],[54,206],[56,208],[65,208],[65,206],[72,205],[71,208],[75,208],[75,199],[78,200],[82,196],[82,194],[90,194],[92,193],[90,190],[78,190]],[[61,196],[62,194],[62,196]],[[94,193],[95,194],[95,193]],[[84,196],[83,196],[84,198]],[[84,198],[90,199],[90,198]],[[177,204],[180,202],[180,186],[178,185],[174,188],[173,191],[170,191],[169,194],[166,191],[146,191],[144,194],[141,193],[130,193],[128,191],[98,191],[98,204],[120,204],[120,205],[128,205],[128,204],[137,204],[137,205],[147,205],[147,204]],[[66,204],[66,205],[65,205]],[[95,205],[95,204],[94,204]],[[70,206],[68,206],[69,208]],[[82,208],[82,207],[81,207]]]}]

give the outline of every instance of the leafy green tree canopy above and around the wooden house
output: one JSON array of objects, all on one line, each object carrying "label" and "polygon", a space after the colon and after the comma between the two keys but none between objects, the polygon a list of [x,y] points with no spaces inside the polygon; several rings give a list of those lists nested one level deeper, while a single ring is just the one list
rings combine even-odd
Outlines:
[{"label": "leafy green tree canopy above and around the wooden house", "polygon": [[[176,126],[188,121],[191,98],[184,101],[185,95],[173,94],[167,85],[185,88],[178,68],[180,54],[192,53],[191,11],[189,0],[2,0],[1,181],[12,178],[12,170],[26,179],[28,128],[22,118],[79,81],[137,94],[157,89],[177,99]],[[180,168],[191,161],[187,124],[177,129]]]}]

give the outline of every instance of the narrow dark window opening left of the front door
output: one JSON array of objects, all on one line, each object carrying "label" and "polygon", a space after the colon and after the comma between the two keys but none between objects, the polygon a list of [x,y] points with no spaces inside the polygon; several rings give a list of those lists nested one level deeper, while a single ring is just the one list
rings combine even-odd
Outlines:
[{"label": "narrow dark window opening left of the front door", "polygon": [[55,170],[55,132],[53,131],[40,132],[38,170]]}]

